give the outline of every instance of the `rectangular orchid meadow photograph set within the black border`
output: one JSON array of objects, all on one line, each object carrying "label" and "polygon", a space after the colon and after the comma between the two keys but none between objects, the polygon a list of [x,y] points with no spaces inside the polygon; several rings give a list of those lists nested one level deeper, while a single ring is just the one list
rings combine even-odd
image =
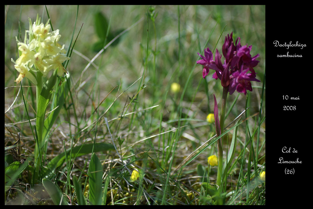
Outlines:
[{"label": "rectangular orchid meadow photograph set within the black border", "polygon": [[265,205],[266,15],[6,5],[5,205]]}]

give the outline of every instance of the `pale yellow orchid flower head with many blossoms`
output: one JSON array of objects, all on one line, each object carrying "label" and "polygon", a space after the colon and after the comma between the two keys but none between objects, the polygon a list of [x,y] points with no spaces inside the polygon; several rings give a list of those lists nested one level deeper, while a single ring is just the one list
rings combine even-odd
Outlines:
[{"label": "pale yellow orchid flower head with many blossoms", "polygon": [[[64,45],[61,46],[58,41],[61,38],[59,30],[52,31],[49,33],[51,26],[49,20],[44,25],[40,23],[40,18],[37,15],[36,22],[33,26],[31,19],[29,18],[29,30],[26,33],[29,34],[29,41],[26,41],[25,34],[25,43],[16,41],[19,45],[19,58],[12,62],[15,64],[15,69],[20,73],[15,82],[19,83],[24,77],[28,78],[32,83],[37,85],[37,80],[34,75],[36,75],[37,70],[39,70],[44,77],[47,76],[48,72],[52,69],[58,69],[58,75],[62,76],[64,73],[67,73],[62,63],[65,60],[69,60],[69,57],[66,57],[66,50]],[[27,44],[29,42],[29,44]],[[35,65],[36,69],[33,69],[32,66]]]}]

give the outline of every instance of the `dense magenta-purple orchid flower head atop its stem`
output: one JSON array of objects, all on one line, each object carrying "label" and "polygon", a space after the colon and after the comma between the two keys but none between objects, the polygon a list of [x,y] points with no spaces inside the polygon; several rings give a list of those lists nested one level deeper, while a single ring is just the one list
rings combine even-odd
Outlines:
[{"label": "dense magenta-purple orchid flower head atop its stem", "polygon": [[247,90],[252,91],[250,81],[257,81],[254,67],[258,65],[259,61],[256,58],[259,54],[254,57],[251,56],[250,52],[252,45],[248,44],[241,46],[240,38],[236,40],[236,44],[233,43],[233,33],[228,34],[225,37],[222,52],[225,57],[224,64],[222,64],[222,55],[216,49],[215,61],[213,61],[213,54],[209,48],[204,50],[204,56],[198,55],[203,60],[198,60],[197,63],[204,65],[203,67],[203,78],[208,75],[209,69],[215,70],[213,74],[214,79],[221,80],[223,87],[229,87],[229,94],[233,94],[235,90],[246,95]]}]

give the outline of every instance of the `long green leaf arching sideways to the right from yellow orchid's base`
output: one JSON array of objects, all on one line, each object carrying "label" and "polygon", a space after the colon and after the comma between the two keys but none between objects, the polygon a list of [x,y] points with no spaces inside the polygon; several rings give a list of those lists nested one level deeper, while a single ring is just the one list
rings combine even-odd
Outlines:
[{"label": "long green leaf arching sideways to the right from yellow orchid's base", "polygon": [[[80,146],[76,146],[72,149],[72,155],[71,158],[79,157],[84,154],[89,154],[92,152],[93,144],[83,144]],[[114,150],[114,146],[112,144],[106,144],[106,143],[96,143],[94,152],[100,152],[100,151],[108,151],[108,150]],[[68,158],[70,155],[71,149],[68,149],[66,153],[68,154]],[[48,163],[48,169],[44,170],[43,176],[46,176],[49,174],[50,170],[54,170],[55,168],[61,166],[64,163],[65,160],[65,152],[59,154],[58,156],[54,157],[49,163]]]}]

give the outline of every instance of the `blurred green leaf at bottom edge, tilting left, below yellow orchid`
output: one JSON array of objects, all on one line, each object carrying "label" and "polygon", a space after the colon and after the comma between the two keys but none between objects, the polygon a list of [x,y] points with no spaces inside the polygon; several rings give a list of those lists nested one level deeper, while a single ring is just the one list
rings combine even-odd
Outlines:
[{"label": "blurred green leaf at bottom edge, tilting left, below yellow orchid", "polygon": [[63,193],[61,192],[58,185],[55,185],[52,181],[48,179],[43,179],[42,184],[50,195],[54,205],[67,205]]}]

